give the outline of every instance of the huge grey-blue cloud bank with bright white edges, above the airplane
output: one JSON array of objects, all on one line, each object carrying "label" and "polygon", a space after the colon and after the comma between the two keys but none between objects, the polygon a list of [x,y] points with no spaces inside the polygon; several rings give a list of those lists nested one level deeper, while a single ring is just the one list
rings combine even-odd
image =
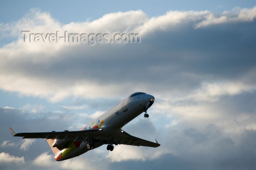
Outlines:
[{"label": "huge grey-blue cloud bank with bright white edges, above the airplane", "polygon": [[[142,11],[119,12],[92,22],[70,23],[61,27],[58,23],[51,24],[54,21],[49,13],[32,10],[22,19],[29,17],[30,22],[26,27],[21,20],[12,24],[13,29],[55,32],[56,28],[68,28],[70,31],[83,32],[94,29],[97,23],[101,25],[96,29],[99,33],[117,30],[126,32],[126,24],[129,23],[116,25],[115,30],[105,27],[104,23],[109,20],[118,22],[129,15],[133,20],[129,30],[142,32],[142,41],[139,44],[95,44],[92,47],[88,44],[17,41],[1,48],[1,54],[7,59],[1,65],[1,77],[6,79],[1,83],[1,88],[58,101],[70,95],[99,96],[97,91],[94,94],[89,94],[89,91],[94,90],[94,87],[104,88],[101,82],[106,88],[116,87],[116,92],[120,94],[127,87],[125,84],[135,84],[134,90],[143,86],[145,90],[163,93],[168,87],[186,91],[200,86],[202,81],[241,79],[248,72],[254,72],[256,62],[256,35],[253,31],[256,26],[253,20],[255,8],[241,9],[240,12],[245,11],[252,14],[250,20],[241,17],[239,12],[223,13],[219,18],[238,16],[239,22],[213,21],[207,27],[195,29],[194,24],[206,18],[210,20],[210,12],[167,12],[166,15],[151,19],[146,19]],[[44,21],[40,22],[42,19]],[[12,54],[12,48],[22,50]],[[38,50],[31,51],[33,48]],[[19,83],[14,83],[17,78]],[[156,82],[161,82],[158,85],[161,90],[155,87]],[[25,84],[31,84],[29,91],[24,87]],[[79,88],[88,90],[77,91]],[[108,96],[106,91],[101,93]]]}]

